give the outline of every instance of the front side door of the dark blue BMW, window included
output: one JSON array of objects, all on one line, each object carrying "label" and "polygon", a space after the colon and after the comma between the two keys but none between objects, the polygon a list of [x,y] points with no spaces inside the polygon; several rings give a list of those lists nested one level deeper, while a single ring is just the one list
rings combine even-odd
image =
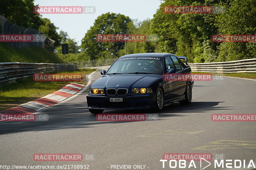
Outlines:
[{"label": "front side door of the dark blue BMW, window included", "polygon": [[[165,67],[166,67],[166,73],[168,73],[171,69],[175,69],[174,63],[172,62],[172,59],[170,56],[167,56],[165,58]],[[175,98],[179,96],[179,88],[177,86],[176,80],[169,79],[167,81],[167,99]]]}]

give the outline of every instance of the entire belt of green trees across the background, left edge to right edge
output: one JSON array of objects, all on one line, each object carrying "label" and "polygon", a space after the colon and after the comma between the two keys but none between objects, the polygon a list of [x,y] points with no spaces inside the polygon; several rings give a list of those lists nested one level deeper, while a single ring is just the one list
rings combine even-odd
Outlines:
[{"label": "entire belt of green trees across the background, left edge to right edge", "polygon": [[[55,53],[66,62],[115,58],[124,55],[124,42],[97,42],[98,34],[157,34],[158,42],[127,42],[126,54],[168,52],[190,62],[255,58],[256,43],[214,43],[212,35],[256,34],[255,0],[162,0],[153,19],[138,21],[116,13],[100,15],[82,39],[81,47],[49,19],[33,13],[33,0],[2,0],[0,14],[22,26],[36,28],[56,41]],[[222,6],[223,13],[164,13],[164,6]],[[69,54],[61,54],[68,43]],[[50,49],[50,44],[46,44]]]}]

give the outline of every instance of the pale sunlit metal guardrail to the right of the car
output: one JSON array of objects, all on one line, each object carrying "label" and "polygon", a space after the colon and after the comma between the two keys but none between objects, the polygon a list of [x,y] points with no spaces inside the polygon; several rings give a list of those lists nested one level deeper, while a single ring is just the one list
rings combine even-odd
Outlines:
[{"label": "pale sunlit metal guardrail to the right of the car", "polygon": [[256,58],[214,63],[191,63],[194,72],[206,73],[256,73]]}]

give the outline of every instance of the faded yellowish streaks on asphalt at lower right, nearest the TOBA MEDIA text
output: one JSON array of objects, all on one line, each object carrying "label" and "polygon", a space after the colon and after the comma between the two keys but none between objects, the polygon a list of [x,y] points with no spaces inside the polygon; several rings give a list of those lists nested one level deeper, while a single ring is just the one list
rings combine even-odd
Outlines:
[{"label": "faded yellowish streaks on asphalt at lower right, nearest the TOBA MEDIA text", "polygon": [[[256,148],[256,141],[234,141],[219,140],[209,142],[210,145],[199,146],[192,150],[218,150],[218,149],[236,149],[236,148]],[[211,145],[214,144],[214,145]]]}]

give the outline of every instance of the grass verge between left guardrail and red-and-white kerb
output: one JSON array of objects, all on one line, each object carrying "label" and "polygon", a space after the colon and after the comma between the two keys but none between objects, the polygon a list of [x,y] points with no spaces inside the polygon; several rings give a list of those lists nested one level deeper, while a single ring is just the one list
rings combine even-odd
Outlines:
[{"label": "grass verge between left guardrail and red-and-white kerb", "polygon": [[[79,73],[86,77],[87,74],[93,71],[95,69],[78,69],[73,72],[63,71],[58,73]],[[33,77],[28,77],[18,80],[17,83],[5,84],[0,87],[0,111],[44,97],[71,82],[74,81],[34,81]],[[86,84],[86,81],[76,83]]]}]

